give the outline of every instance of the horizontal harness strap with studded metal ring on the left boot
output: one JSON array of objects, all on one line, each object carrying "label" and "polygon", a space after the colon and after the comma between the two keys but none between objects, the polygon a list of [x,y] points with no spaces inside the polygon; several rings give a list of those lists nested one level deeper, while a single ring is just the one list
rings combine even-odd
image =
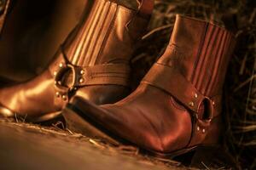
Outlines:
[{"label": "horizontal harness strap with studded metal ring on the left boot", "polygon": [[[59,58],[49,67],[58,88],[80,88],[89,85],[129,86],[130,66],[128,64],[102,64],[77,66],[68,62],[61,49]],[[72,82],[65,83],[64,79]]]}]

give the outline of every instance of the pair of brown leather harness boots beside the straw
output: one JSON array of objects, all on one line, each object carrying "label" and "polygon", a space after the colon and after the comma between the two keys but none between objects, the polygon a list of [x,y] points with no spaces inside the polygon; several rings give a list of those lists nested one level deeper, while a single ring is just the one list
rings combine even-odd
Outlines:
[{"label": "pair of brown leather harness boots beside the straw", "polygon": [[134,42],[152,9],[148,0],[141,1],[137,12],[96,1],[47,71],[31,82],[1,89],[2,111],[38,117],[67,104],[62,115],[71,130],[136,144],[157,156],[219,144],[222,88],[235,47],[235,37],[224,28],[177,15],[165,54],[122,99],[129,93]]}]

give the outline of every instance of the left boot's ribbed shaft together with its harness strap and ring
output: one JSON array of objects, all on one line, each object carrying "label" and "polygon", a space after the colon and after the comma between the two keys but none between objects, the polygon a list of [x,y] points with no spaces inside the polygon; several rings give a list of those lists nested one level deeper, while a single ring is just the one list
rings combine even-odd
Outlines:
[{"label": "left boot's ribbed shaft together with its harness strap and ring", "polygon": [[[142,36],[154,8],[153,0],[138,2],[138,10],[109,0],[92,3],[89,16],[67,37],[49,66],[50,74],[55,77],[57,105],[86,91],[88,86],[129,87],[129,61],[134,43]],[[83,95],[88,96],[86,93]]]}]

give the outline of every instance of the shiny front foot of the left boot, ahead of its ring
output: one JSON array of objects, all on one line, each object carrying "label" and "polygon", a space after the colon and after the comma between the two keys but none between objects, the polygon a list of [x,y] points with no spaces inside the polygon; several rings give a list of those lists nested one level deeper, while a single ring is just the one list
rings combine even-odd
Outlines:
[{"label": "shiny front foot of the left boot, ahead of its ring", "polygon": [[24,83],[0,89],[0,104],[20,116],[42,116],[57,111],[54,79],[49,71]]}]

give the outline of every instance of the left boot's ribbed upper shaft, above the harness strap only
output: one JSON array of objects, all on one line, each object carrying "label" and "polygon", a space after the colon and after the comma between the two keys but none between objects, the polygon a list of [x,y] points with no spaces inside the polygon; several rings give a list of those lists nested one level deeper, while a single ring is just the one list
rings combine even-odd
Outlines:
[{"label": "left boot's ribbed upper shaft, above the harness strap only", "polygon": [[[150,14],[148,14],[150,15]],[[108,0],[96,0],[65,53],[73,65],[128,63],[148,18]]]}]

